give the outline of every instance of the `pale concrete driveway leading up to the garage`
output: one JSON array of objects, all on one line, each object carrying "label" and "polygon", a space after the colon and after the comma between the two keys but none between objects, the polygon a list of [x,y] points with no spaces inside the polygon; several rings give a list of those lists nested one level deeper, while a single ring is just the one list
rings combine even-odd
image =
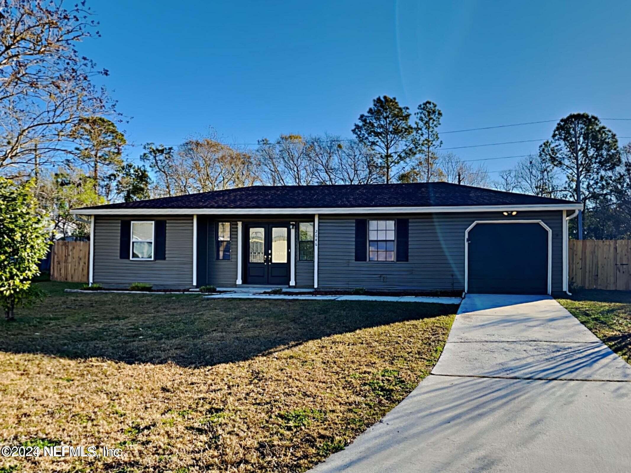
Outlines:
[{"label": "pale concrete driveway leading up to the garage", "polygon": [[631,366],[546,296],[468,295],[432,374],[315,472],[628,472]]}]

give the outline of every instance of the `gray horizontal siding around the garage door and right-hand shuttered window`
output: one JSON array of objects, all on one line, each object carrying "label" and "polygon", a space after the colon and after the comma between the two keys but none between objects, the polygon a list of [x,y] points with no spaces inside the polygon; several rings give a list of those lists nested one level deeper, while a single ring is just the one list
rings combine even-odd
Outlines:
[{"label": "gray horizontal siding around the garage door and right-hand shuttered window", "polygon": [[[463,291],[464,231],[473,221],[504,217],[499,213],[387,216],[410,219],[408,262],[355,261],[355,218],[367,216],[320,217],[319,288]],[[552,290],[562,291],[562,213],[520,212],[515,219],[541,219],[552,230]]]}]

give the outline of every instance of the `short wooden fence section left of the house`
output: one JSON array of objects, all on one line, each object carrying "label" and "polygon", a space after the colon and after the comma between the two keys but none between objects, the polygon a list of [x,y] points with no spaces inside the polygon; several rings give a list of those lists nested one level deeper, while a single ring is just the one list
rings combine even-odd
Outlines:
[{"label": "short wooden fence section left of the house", "polygon": [[87,283],[90,271],[90,242],[55,242],[50,259],[50,279]]}]

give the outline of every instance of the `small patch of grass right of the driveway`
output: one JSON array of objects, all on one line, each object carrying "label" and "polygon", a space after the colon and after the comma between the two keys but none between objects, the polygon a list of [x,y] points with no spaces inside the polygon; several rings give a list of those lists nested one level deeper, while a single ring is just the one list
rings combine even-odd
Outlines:
[{"label": "small patch of grass right of the driveway", "polygon": [[582,290],[558,302],[631,363],[631,291]]}]

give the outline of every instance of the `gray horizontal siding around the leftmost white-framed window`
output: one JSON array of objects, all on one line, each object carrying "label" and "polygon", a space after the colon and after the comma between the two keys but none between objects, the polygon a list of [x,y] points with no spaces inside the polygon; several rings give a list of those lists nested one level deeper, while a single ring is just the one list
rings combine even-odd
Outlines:
[{"label": "gray horizontal siding around the leftmost white-framed window", "polygon": [[[110,286],[148,283],[159,286],[192,285],[192,217],[143,216],[143,220],[166,220],[166,259],[132,261],[119,258],[121,219],[96,216],[94,223],[94,282]],[[139,218],[135,218],[139,219]]]}]

